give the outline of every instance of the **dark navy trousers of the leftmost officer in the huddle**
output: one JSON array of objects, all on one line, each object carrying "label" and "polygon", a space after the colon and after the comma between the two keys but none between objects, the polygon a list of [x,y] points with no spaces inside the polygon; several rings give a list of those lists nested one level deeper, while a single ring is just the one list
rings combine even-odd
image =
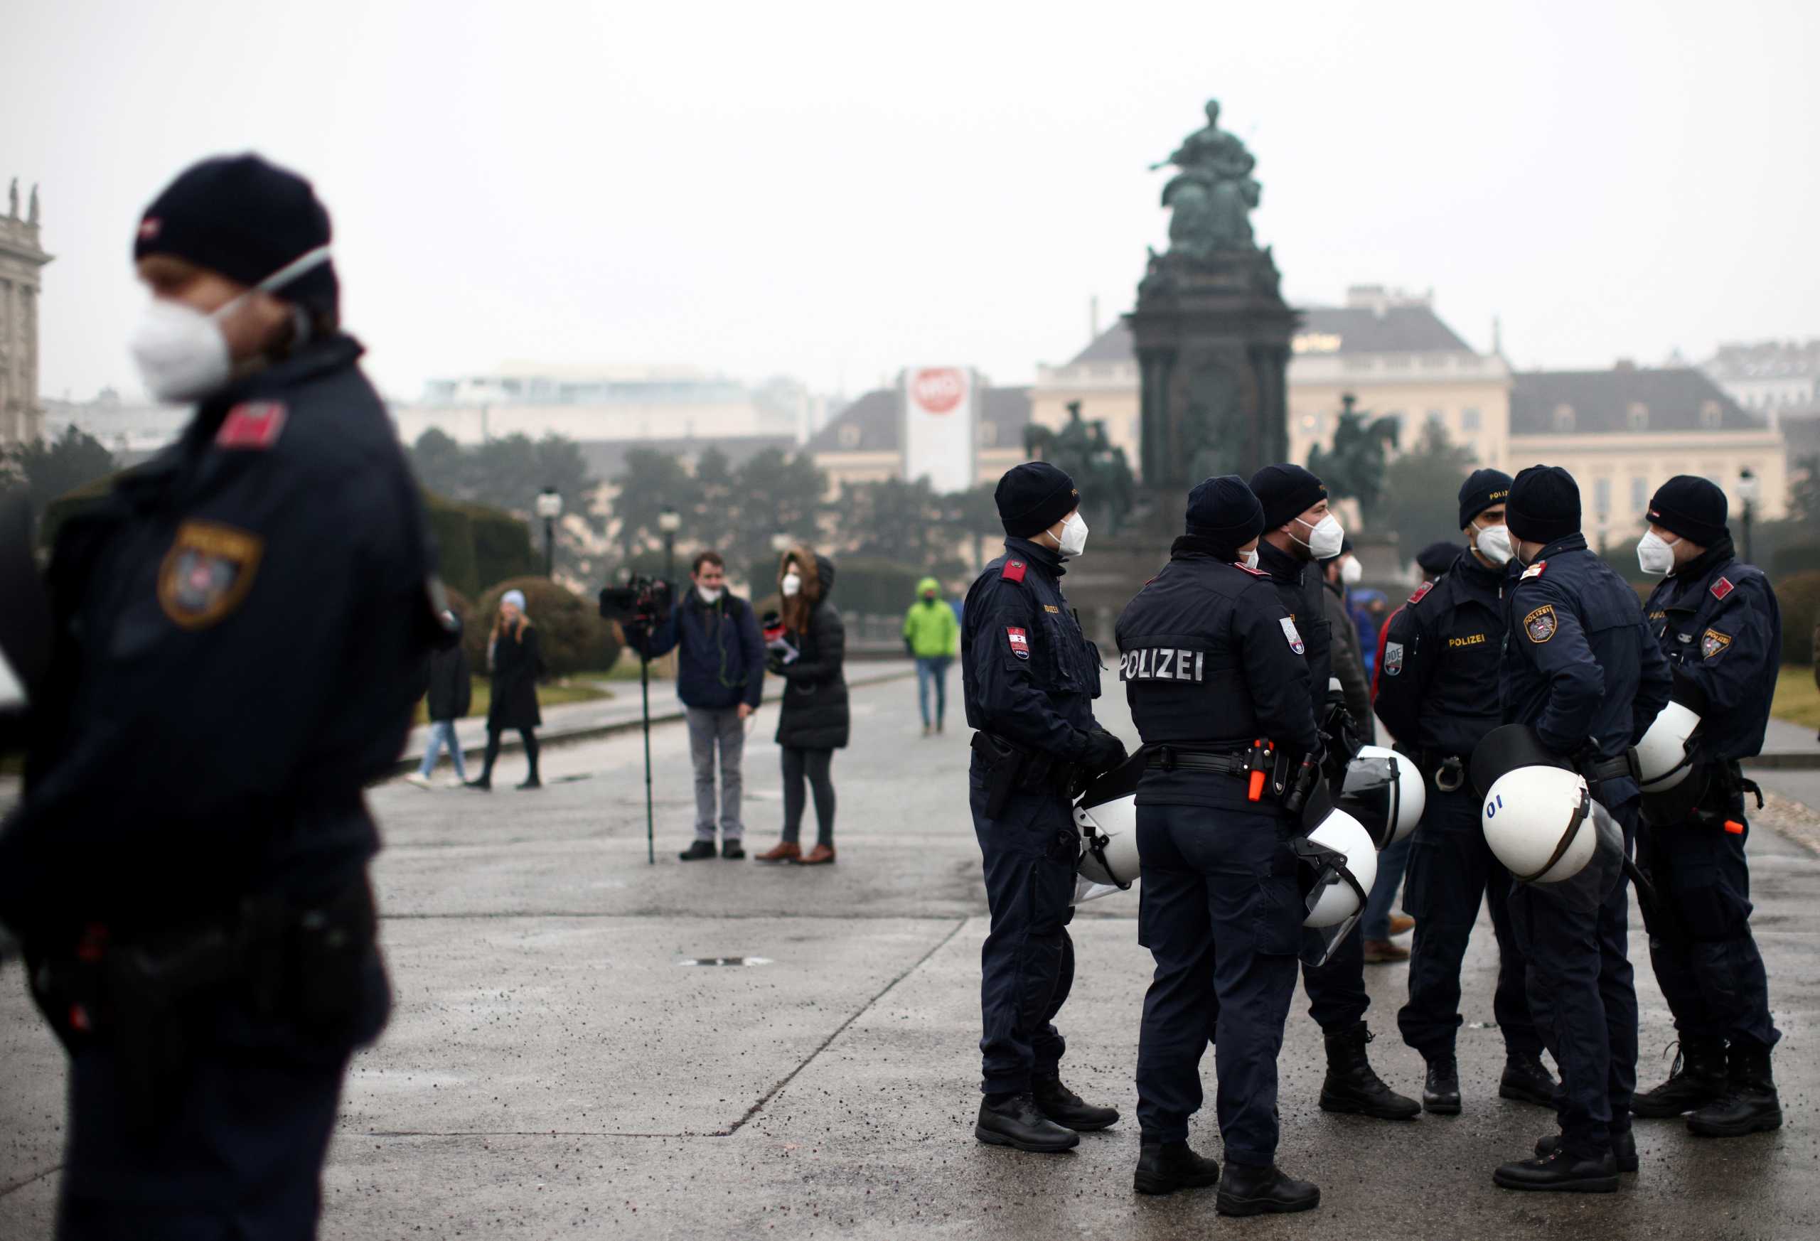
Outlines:
[{"label": "dark navy trousers of the leftmost officer in the huddle", "polygon": [[1054,1021],[1074,986],[1068,923],[1081,832],[1059,792],[1016,792],[997,819],[986,817],[977,770],[968,793],[992,910],[979,953],[981,1090],[1025,1092],[1032,1077],[1056,1074],[1068,1046]]}]

